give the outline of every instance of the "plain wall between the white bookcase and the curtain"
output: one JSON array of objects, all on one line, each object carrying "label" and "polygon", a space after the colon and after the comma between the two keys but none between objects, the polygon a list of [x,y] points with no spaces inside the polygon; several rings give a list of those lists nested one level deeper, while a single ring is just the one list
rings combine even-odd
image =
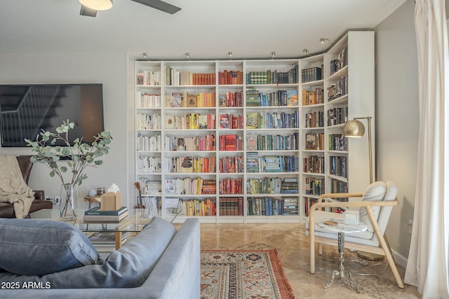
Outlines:
[{"label": "plain wall between the white bookcase and the curtain", "polygon": [[419,125],[414,18],[415,4],[406,1],[375,27],[377,179],[398,185],[400,205],[393,208],[386,233],[391,248],[404,258],[415,206]]}]

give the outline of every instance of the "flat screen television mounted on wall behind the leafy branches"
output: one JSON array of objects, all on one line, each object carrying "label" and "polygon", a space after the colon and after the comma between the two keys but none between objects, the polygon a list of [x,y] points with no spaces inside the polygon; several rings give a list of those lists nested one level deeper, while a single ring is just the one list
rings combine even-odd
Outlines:
[{"label": "flat screen television mounted on wall behind the leafy branches", "polygon": [[[104,130],[101,83],[0,85],[2,147],[25,147],[41,130],[56,132],[64,120],[74,123],[69,141],[91,144]],[[63,144],[55,144],[63,145]]]}]

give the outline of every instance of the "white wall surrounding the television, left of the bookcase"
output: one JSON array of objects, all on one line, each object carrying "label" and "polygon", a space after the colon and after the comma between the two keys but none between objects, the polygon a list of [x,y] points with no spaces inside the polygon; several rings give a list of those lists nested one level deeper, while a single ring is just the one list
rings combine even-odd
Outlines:
[{"label": "white wall surrounding the television, left of the bookcase", "polygon": [[[90,188],[116,183],[126,195],[128,177],[128,62],[127,53],[0,53],[0,84],[18,83],[102,83],[105,130],[112,134],[109,154],[103,165],[89,168],[88,179],[79,186],[82,198]],[[29,155],[29,148],[0,148],[1,154]],[[34,190],[45,190],[46,197],[60,193],[60,179],[49,170],[34,165],[29,178]],[[81,196],[82,195],[82,196]],[[127,200],[128,197],[124,196]],[[133,202],[133,201],[132,201]]]}]

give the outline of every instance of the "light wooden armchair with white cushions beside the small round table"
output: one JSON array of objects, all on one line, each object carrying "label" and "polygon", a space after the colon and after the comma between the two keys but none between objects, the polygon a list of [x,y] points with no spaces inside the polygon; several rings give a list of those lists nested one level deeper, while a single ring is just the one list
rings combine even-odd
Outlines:
[{"label": "light wooden armchair with white cushions beside the small round table", "polygon": [[[343,218],[343,214],[323,211],[326,208],[350,207],[360,209],[360,221],[368,225],[365,232],[356,232],[345,235],[344,243],[347,248],[382,254],[394,274],[396,283],[403,288],[403,281],[399,275],[394,259],[391,256],[389,246],[384,239],[384,232],[393,206],[398,205],[396,198],[398,188],[393,182],[376,181],[364,193],[328,193],[319,197],[316,204],[309,210],[309,221],[306,221],[306,235],[310,242],[310,272],[315,272],[315,243],[318,243],[319,255],[323,254],[322,244],[337,246],[337,234],[327,232],[316,225],[316,221],[324,218]],[[335,197],[361,197],[361,200],[349,200],[348,202],[325,202],[326,198]]]}]

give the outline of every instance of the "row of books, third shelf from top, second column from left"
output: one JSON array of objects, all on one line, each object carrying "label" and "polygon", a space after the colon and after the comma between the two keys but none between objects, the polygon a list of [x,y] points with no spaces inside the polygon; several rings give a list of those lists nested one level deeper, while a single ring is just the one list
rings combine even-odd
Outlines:
[{"label": "row of books, third shelf from top, second column from left", "polygon": [[182,116],[166,115],[167,130],[215,129],[215,114],[184,113]]}]

